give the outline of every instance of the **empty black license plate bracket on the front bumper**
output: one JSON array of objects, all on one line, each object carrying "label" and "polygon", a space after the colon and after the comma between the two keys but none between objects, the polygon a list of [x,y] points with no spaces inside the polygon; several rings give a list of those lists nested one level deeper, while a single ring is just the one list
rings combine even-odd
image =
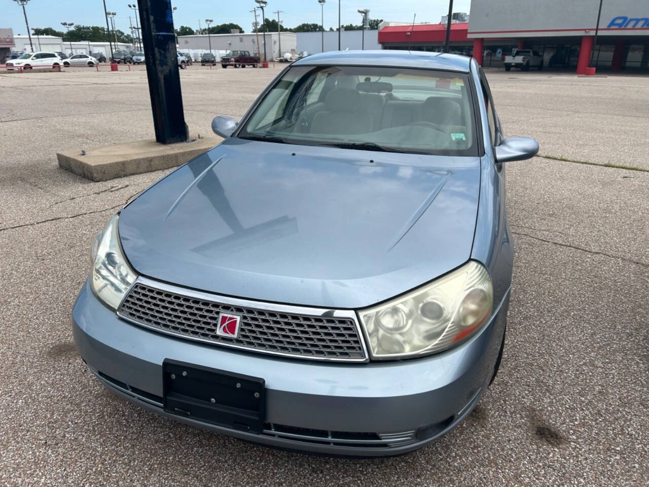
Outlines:
[{"label": "empty black license plate bracket on the front bumper", "polygon": [[165,412],[260,434],[265,420],[265,381],[219,369],[162,362]]}]

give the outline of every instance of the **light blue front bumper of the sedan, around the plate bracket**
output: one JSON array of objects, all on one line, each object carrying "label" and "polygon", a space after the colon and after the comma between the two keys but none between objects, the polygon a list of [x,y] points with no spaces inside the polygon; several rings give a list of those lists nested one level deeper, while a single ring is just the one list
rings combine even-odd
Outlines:
[{"label": "light blue front bumper of the sedan, around the plate bracket", "polygon": [[[77,349],[104,386],[178,421],[284,449],[342,456],[407,453],[459,423],[491,379],[509,293],[491,322],[445,353],[395,362],[344,364],[269,357],[149,331],[117,318],[86,281],[73,308]],[[262,434],[167,414],[165,358],[263,377]]]}]

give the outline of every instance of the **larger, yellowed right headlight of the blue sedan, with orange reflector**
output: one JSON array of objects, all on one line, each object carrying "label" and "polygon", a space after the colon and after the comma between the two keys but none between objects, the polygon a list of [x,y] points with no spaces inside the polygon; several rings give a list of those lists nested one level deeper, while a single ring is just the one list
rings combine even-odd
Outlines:
[{"label": "larger, yellowed right headlight of the blue sedan, with orange reflector", "polygon": [[466,340],[491,316],[493,286],[478,262],[388,303],[358,312],[373,358],[441,352]]}]

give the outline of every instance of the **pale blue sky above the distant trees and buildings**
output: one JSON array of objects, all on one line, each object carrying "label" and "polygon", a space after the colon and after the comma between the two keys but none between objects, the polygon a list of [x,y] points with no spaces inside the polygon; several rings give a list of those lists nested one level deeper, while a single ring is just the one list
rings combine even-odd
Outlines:
[{"label": "pale blue sky above the distant trees and buildings", "polygon": [[[134,0],[106,0],[106,8],[117,12],[116,27],[129,32],[129,15],[134,12],[128,4]],[[136,0],[135,0],[136,1]],[[295,27],[300,23],[320,23],[321,10],[317,0],[267,0],[265,11],[268,16],[276,18],[276,10],[282,10],[280,19],[285,27]],[[214,19],[214,24],[234,22],[241,25],[245,32],[252,31],[252,8],[254,0],[171,0],[177,7],[174,12],[174,25],[188,25],[198,29],[199,19],[202,27],[204,19]],[[471,0],[454,0],[454,12],[467,12]],[[102,0],[29,0],[27,6],[29,27],[53,27],[64,31],[61,22],[73,22],[80,25],[106,25]],[[369,8],[371,19],[411,22],[417,14],[417,22],[437,23],[448,12],[448,0],[341,0],[341,23],[343,25],[361,23],[359,8]],[[337,27],[338,1],[327,0],[324,4],[324,27]],[[27,34],[22,8],[13,0],[0,0],[0,27],[11,27],[14,34]]]}]

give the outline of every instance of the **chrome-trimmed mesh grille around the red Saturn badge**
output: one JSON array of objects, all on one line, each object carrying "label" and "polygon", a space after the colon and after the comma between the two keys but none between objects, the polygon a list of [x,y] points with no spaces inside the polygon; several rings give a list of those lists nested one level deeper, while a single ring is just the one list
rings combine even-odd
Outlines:
[{"label": "chrome-trimmed mesh grille around the red Saturn badge", "polygon": [[[278,305],[262,309],[252,307],[249,301],[242,303],[238,299],[221,299],[175,286],[138,281],[127,293],[118,313],[145,327],[217,345],[303,358],[341,361],[366,358],[352,313],[334,316],[334,311],[313,310],[313,314],[298,314],[278,310]],[[321,314],[316,314],[317,311]],[[221,312],[241,316],[238,338],[217,335]]]}]

